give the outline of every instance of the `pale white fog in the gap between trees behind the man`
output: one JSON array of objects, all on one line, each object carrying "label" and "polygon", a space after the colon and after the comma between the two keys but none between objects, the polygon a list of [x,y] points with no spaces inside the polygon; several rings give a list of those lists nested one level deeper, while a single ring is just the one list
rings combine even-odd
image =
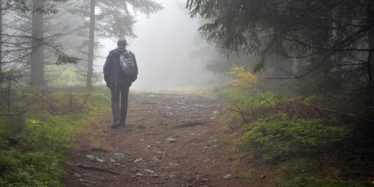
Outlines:
[{"label": "pale white fog in the gap between trees behind the man", "polygon": [[[197,19],[189,18],[183,0],[157,0],[163,11],[146,18],[139,14],[134,27],[136,38],[129,40],[129,47],[136,55],[139,66],[138,80],[133,90],[203,85],[211,82],[213,73],[194,56],[204,42],[199,39]],[[201,40],[203,41],[203,40]],[[116,47],[113,40],[101,40],[105,46],[99,50],[107,56]],[[195,52],[194,52],[195,51]],[[97,59],[103,66],[105,59]],[[100,70],[98,70],[100,71]]]}]

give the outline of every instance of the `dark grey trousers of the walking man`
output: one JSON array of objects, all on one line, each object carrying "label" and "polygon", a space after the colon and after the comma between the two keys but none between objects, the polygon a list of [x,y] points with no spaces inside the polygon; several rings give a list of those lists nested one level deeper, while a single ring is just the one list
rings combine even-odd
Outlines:
[{"label": "dark grey trousers of the walking man", "polygon": [[112,95],[113,122],[124,123],[127,116],[127,102],[129,101],[129,86],[110,89]]}]

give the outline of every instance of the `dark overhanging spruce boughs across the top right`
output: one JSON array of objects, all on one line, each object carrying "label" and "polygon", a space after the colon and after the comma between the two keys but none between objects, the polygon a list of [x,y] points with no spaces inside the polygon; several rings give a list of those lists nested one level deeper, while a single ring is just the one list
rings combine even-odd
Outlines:
[{"label": "dark overhanging spruce boughs across the top right", "polygon": [[[331,65],[359,65],[358,59],[346,62],[342,59],[368,55],[368,47],[361,43],[368,42],[369,34],[359,34],[357,29],[361,26],[352,23],[358,21],[366,25],[367,30],[373,29],[370,23],[373,20],[368,22],[367,17],[372,15],[373,6],[370,1],[363,3],[356,0],[324,3],[318,0],[187,1],[190,16],[209,20],[199,30],[206,40],[216,42],[218,47],[238,54],[276,54],[301,59],[310,68],[320,67],[319,63],[331,63],[327,58],[334,59]],[[349,40],[351,37],[354,39]],[[342,53],[347,47],[351,50]],[[255,69],[264,68],[265,62],[264,59],[260,61]],[[298,73],[301,77],[305,76],[310,68]],[[327,66],[323,71],[331,73]],[[300,77],[290,73],[288,76]]]}]

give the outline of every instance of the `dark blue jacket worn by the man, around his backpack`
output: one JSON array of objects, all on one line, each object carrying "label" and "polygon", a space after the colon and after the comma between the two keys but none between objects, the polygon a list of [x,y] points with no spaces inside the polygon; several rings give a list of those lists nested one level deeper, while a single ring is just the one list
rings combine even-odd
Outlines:
[{"label": "dark blue jacket worn by the man, around his backpack", "polygon": [[130,86],[136,80],[138,75],[138,66],[136,64],[135,55],[134,61],[136,65],[136,76],[124,76],[119,71],[121,65],[119,65],[119,56],[126,51],[124,47],[118,47],[110,51],[109,55],[107,56],[107,60],[105,61],[104,65],[104,80],[107,83],[107,87],[110,89],[115,89],[116,86],[124,87]]}]

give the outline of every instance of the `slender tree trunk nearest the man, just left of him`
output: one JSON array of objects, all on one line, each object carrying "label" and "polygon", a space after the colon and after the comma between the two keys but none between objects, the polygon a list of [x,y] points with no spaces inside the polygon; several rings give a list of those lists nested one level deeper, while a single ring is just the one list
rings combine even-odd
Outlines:
[{"label": "slender tree trunk nearest the man, just left of him", "polygon": [[92,89],[93,47],[95,45],[95,0],[90,0],[90,37],[88,44],[87,89]]}]

